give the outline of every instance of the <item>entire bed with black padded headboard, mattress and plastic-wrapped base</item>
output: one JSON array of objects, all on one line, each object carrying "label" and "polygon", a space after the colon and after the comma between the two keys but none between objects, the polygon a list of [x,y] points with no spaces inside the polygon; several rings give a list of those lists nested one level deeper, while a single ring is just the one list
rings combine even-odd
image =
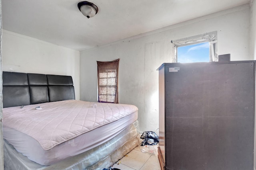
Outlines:
[{"label": "entire bed with black padded headboard, mattress and plastic-wrapped base", "polygon": [[2,77],[6,170],[102,170],[139,145],[136,106],[75,100],[71,76]]}]

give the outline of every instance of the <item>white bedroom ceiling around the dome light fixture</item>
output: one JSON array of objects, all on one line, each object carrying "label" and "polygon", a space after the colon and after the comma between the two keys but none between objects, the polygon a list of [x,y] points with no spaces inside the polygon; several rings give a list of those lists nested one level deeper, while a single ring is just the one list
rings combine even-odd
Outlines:
[{"label": "white bedroom ceiling around the dome light fixture", "polygon": [[3,29],[75,50],[85,50],[248,4],[251,0],[90,0],[93,18],[79,0],[2,0]]}]

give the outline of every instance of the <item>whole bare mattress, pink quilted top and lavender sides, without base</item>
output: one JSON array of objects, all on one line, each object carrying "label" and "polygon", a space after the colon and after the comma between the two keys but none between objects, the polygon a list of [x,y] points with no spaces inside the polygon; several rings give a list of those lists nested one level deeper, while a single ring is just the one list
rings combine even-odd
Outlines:
[{"label": "whole bare mattress, pink quilted top and lavender sides, without base", "polygon": [[4,139],[30,160],[49,165],[113,138],[136,121],[137,111],[133,105],[78,100],[7,107],[3,109]]}]

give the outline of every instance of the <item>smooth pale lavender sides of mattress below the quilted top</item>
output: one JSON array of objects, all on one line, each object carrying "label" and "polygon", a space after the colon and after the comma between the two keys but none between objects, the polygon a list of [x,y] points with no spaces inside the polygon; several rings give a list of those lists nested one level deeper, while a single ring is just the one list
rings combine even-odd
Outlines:
[{"label": "smooth pale lavender sides of mattress below the quilted top", "polygon": [[4,139],[12,144],[18,152],[28,156],[30,160],[42,165],[50,165],[65,158],[85,152],[86,150],[90,150],[109,139],[112,139],[136,121],[137,117],[138,112],[135,111],[126,117],[102,125],[92,131],[87,131],[76,138],[60,143],[48,150],[44,150],[38,141],[29,135],[6,126],[3,126]]}]

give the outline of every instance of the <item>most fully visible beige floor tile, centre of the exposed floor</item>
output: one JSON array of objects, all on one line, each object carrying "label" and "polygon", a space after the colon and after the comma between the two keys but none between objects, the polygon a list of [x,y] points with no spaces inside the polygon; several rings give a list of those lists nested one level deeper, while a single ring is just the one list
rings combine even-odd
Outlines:
[{"label": "most fully visible beige floor tile, centre of the exposed floor", "polygon": [[150,156],[150,154],[144,154],[138,150],[132,150],[118,162],[135,170],[140,170]]}]

